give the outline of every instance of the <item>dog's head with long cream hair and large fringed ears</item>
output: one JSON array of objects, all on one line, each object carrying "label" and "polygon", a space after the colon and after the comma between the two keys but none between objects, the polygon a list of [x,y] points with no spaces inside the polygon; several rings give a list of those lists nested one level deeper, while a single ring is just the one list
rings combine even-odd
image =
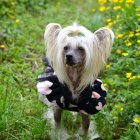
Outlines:
[{"label": "dog's head with long cream hair and large fringed ears", "polygon": [[100,28],[92,33],[77,24],[62,29],[59,24],[50,23],[46,27],[44,38],[47,57],[60,82],[70,83],[66,66],[82,67],[77,90],[83,90],[97,78],[106,63],[114,34],[108,28]]}]

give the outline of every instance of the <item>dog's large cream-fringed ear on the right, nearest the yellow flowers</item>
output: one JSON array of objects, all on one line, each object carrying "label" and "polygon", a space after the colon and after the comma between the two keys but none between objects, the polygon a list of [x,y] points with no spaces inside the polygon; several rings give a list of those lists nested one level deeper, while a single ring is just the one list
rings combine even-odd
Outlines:
[{"label": "dog's large cream-fringed ear on the right, nearest the yellow flowers", "polygon": [[98,48],[104,62],[106,62],[114,42],[114,33],[108,28],[100,28],[94,32],[96,40],[98,40]]}]

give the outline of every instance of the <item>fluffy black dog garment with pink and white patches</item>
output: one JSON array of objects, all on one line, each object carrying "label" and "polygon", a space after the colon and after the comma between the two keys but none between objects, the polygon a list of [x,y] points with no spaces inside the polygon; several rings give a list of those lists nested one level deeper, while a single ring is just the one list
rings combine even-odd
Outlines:
[{"label": "fluffy black dog garment with pink and white patches", "polygon": [[[66,84],[59,82],[48,59],[44,58],[46,69],[39,75],[37,89],[40,94],[46,96],[50,102],[55,102],[64,110],[84,112],[85,114],[96,114],[106,104],[107,91],[103,87],[101,80],[96,79],[92,85],[88,85],[77,99],[72,98],[72,93]],[[94,98],[93,92],[98,93],[101,97]]]}]

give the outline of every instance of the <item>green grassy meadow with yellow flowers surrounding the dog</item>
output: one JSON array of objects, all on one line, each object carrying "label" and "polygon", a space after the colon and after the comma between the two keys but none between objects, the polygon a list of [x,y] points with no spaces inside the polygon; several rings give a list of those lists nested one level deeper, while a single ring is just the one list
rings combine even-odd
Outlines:
[{"label": "green grassy meadow with yellow flowers surrounding the dog", "polygon": [[[99,140],[140,140],[139,0],[0,0],[0,140],[51,139],[47,107],[36,90],[50,22],[113,30],[111,56],[99,77],[107,105],[91,120]],[[63,117],[72,136],[77,124],[69,112]]]}]

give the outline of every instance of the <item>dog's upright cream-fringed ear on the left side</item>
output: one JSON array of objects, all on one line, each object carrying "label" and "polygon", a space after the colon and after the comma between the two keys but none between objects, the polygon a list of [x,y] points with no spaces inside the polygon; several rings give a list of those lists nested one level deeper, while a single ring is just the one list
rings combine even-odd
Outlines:
[{"label": "dog's upright cream-fringed ear on the left side", "polygon": [[50,43],[55,42],[55,38],[59,34],[60,30],[61,30],[61,26],[57,23],[49,23],[46,26],[45,33],[44,33],[44,39],[45,39],[45,44],[47,47],[49,47],[49,45],[51,45],[51,46],[53,45]]}]

